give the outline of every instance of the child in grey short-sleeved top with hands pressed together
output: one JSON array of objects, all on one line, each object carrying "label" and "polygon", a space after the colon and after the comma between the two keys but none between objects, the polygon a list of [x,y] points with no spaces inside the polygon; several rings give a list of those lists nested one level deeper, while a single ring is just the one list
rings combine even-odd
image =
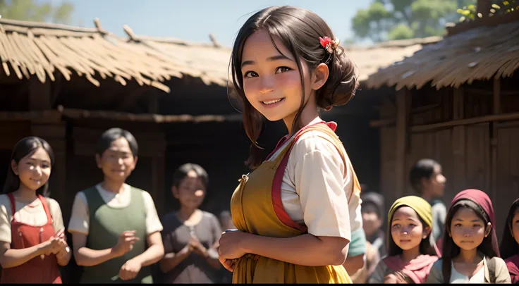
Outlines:
[{"label": "child in grey short-sleeved top with hands pressed together", "polygon": [[160,261],[167,284],[220,282],[218,219],[201,211],[209,176],[201,166],[185,163],[173,173],[171,192],[181,207],[162,219],[164,258]]}]

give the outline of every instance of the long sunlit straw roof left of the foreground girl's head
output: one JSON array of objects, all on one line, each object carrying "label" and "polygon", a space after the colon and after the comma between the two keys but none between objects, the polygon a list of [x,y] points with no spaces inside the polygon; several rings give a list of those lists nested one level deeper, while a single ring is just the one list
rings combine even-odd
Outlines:
[{"label": "long sunlit straw roof left of the foreground girl's head", "polygon": [[[96,86],[96,77],[113,77],[121,85],[135,80],[165,92],[169,87],[162,82],[172,76],[191,75],[207,84],[226,85],[226,66],[212,64],[212,58],[228,61],[230,51],[226,49],[144,37],[140,41],[121,39],[104,30],[98,20],[95,23],[96,28],[82,28],[1,19],[0,76],[15,74],[22,79],[35,75],[45,82],[54,81],[56,73],[66,80],[77,73]],[[224,50],[226,56],[221,56]],[[223,72],[218,73],[219,69]]]}]

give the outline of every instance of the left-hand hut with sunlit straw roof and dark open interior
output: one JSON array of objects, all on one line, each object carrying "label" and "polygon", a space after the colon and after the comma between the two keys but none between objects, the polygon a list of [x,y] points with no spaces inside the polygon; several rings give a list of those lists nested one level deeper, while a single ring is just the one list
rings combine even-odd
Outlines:
[{"label": "left-hand hut with sunlit straw roof and dark open interior", "polygon": [[[94,23],[80,28],[0,20],[0,181],[19,139],[47,139],[56,156],[51,197],[61,204],[67,225],[76,192],[102,180],[94,163],[97,138],[120,127],[140,145],[128,182],[152,195],[159,216],[174,207],[169,178],[186,161],[207,168],[214,189],[232,185],[228,197],[207,198],[206,209],[218,209],[219,200],[225,208],[245,172],[248,142],[240,115],[228,104],[225,66],[219,72],[204,61],[225,63],[230,51],[137,39],[129,27],[130,37],[117,37]],[[75,282],[77,269],[73,263],[70,268],[63,279]]]}]

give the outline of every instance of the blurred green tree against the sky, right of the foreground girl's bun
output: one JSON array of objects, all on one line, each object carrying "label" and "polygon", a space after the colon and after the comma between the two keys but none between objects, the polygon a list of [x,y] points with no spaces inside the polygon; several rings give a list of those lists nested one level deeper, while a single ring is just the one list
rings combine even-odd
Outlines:
[{"label": "blurred green tree against the sky, right of the foreground girl's bun", "polygon": [[458,20],[458,7],[473,0],[372,0],[352,19],[358,39],[381,42],[443,35],[445,24]]}]

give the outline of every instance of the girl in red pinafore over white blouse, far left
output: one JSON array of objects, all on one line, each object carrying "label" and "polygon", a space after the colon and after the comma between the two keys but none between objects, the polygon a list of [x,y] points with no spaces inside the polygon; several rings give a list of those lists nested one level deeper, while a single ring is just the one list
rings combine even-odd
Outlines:
[{"label": "girl in red pinafore over white blouse, far left", "polygon": [[54,152],[25,137],[11,155],[0,195],[0,283],[61,283],[58,266],[71,260],[59,204],[49,196]]}]

